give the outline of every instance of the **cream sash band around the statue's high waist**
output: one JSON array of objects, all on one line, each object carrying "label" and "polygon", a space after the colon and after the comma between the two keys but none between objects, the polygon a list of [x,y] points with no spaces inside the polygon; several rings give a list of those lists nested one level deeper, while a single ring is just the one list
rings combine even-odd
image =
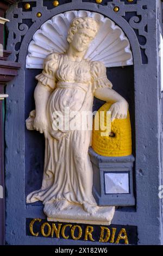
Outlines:
[{"label": "cream sash band around the statue's high waist", "polygon": [[80,89],[84,90],[84,92],[87,92],[89,89],[89,84],[86,83],[69,83],[69,82],[58,82],[57,83],[58,88],[64,88],[64,89]]}]

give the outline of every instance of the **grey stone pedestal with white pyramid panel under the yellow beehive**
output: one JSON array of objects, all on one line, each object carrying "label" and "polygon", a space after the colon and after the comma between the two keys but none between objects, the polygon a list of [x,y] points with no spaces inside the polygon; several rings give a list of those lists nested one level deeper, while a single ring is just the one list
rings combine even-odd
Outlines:
[{"label": "grey stone pedestal with white pyramid panel under the yellow beehive", "polygon": [[89,149],[93,166],[93,196],[100,206],[135,205],[133,194],[134,156],[105,157]]}]

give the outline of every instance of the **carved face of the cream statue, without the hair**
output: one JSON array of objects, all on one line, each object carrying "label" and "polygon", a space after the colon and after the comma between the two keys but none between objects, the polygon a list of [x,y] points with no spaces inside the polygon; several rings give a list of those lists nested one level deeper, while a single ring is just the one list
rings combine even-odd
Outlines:
[{"label": "carved face of the cream statue, without the hair", "polygon": [[78,32],[74,34],[71,45],[76,51],[83,52],[87,50],[95,36],[96,32],[93,32],[91,29],[79,29]]}]

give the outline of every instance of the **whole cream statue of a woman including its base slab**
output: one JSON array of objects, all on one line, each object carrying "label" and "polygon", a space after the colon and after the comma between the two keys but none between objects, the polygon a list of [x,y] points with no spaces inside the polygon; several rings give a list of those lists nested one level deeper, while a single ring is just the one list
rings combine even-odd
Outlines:
[{"label": "whole cream statue of a woman including its base slab", "polygon": [[[49,221],[90,224],[110,224],[115,207],[99,207],[92,196],[92,165],[88,154],[92,130],[54,127],[54,120],[65,108],[70,111],[70,126],[74,111],[92,111],[93,96],[114,102],[111,119],[127,117],[128,103],[112,90],[103,62],[84,56],[99,31],[93,17],[75,17],[68,31],[65,53],[49,54],[43,71],[36,76],[35,111],[27,119],[27,129],[45,135],[45,163],[42,187],[30,193],[27,203],[43,202]],[[82,120],[82,119],[81,119]]]}]

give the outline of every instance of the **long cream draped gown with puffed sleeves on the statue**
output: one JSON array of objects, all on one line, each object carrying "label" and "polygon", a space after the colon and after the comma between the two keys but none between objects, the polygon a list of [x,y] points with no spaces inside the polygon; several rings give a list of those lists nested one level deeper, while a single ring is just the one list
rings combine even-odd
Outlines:
[{"label": "long cream draped gown with puffed sleeves on the statue", "polygon": [[[112,87],[106,77],[102,62],[73,62],[66,54],[52,53],[44,64],[44,69],[36,79],[45,86],[51,95],[47,104],[49,136],[45,143],[45,162],[42,187],[30,193],[28,203],[41,200],[43,204],[56,200],[70,203],[96,205],[92,196],[92,164],[88,154],[91,145],[91,129],[54,129],[54,113],[65,117],[65,107],[70,114],[78,112],[78,119],[85,111],[92,112],[95,90]],[[92,117],[91,117],[92,118]],[[82,119],[81,119],[82,120]],[[89,122],[89,118],[86,121]],[[74,117],[70,118],[70,126]],[[64,127],[65,128],[65,127]]]}]

